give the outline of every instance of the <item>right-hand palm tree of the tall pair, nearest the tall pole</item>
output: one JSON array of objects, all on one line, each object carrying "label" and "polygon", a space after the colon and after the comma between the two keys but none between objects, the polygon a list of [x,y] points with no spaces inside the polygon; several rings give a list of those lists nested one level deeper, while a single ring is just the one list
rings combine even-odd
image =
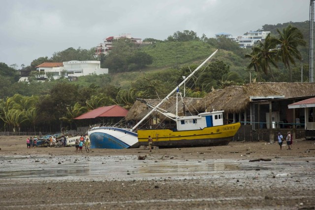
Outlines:
[{"label": "right-hand palm tree of the tall pair, nearest the tall pole", "polygon": [[296,27],[289,25],[282,31],[277,29],[279,33],[279,38],[275,41],[280,45],[280,49],[277,53],[277,59],[284,63],[284,67],[289,69],[290,80],[292,80],[292,70],[290,64],[295,65],[295,59],[301,60],[301,54],[297,47],[299,45],[304,46],[305,41],[303,40],[303,33]]}]

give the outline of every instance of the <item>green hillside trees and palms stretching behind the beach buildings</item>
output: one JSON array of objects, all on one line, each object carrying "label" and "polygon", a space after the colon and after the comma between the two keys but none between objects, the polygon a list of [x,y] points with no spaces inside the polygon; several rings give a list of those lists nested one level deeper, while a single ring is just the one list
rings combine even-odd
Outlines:
[{"label": "green hillside trees and palms stretching behind the beach buildings", "polygon": [[[249,71],[253,81],[300,82],[299,64],[308,58],[303,39],[308,37],[307,24],[265,25],[262,30],[272,33],[252,49],[242,49],[224,37],[198,37],[191,30],[177,31],[165,40],[146,38],[152,44],[143,47],[120,39],[108,56],[95,57],[94,48],[68,48],[22,65],[23,71],[32,72],[29,82],[18,82],[15,64],[0,62],[0,131],[72,129],[87,125],[74,119],[89,110],[114,104],[129,109],[136,97],[164,97],[218,48],[212,62],[185,84],[186,97],[203,97],[214,89],[249,83]],[[35,79],[37,65],[68,60],[100,60],[110,73],[79,77],[78,81]],[[308,69],[307,64],[303,68]],[[302,73],[308,82],[308,72]]]}]

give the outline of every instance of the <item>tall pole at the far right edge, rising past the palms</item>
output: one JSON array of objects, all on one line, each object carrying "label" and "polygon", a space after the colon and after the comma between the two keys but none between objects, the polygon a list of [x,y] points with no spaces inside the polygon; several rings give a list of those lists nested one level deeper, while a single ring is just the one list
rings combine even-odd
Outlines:
[{"label": "tall pole at the far right edge, rising past the palms", "polygon": [[310,3],[310,82],[314,82],[314,0]]}]

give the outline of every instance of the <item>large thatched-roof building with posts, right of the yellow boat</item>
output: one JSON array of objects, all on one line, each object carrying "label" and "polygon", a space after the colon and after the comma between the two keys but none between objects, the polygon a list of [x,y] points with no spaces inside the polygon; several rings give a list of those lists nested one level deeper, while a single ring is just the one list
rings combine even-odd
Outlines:
[{"label": "large thatched-roof building with posts, right of the yellow boat", "polygon": [[269,128],[271,122],[275,128],[279,124],[294,124],[296,118],[304,119],[303,113],[292,112],[287,105],[314,97],[314,94],[315,83],[252,83],[215,90],[199,100],[195,107],[197,110],[204,110],[204,107],[222,109],[226,120],[244,121],[245,124],[248,121],[253,129]]}]

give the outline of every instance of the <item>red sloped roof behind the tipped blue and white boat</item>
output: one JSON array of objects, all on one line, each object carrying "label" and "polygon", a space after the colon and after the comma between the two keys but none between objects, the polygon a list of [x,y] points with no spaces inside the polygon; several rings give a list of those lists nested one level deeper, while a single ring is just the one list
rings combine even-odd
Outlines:
[{"label": "red sloped roof behind the tipped blue and white boat", "polygon": [[112,106],[99,107],[79,117],[76,117],[75,120],[92,119],[92,118],[97,118],[97,117],[126,117],[127,114],[128,114],[128,110],[118,105],[112,105]]}]

